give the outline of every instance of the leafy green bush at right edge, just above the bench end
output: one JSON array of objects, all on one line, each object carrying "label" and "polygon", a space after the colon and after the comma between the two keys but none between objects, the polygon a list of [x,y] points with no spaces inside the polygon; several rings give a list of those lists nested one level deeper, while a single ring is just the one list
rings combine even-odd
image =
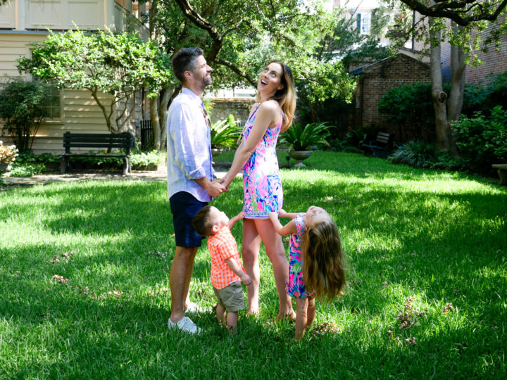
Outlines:
[{"label": "leafy green bush at right edge, just above the bench end", "polygon": [[478,111],[471,118],[462,115],[453,122],[461,155],[479,171],[492,163],[507,162],[507,111],[496,106],[489,116]]}]

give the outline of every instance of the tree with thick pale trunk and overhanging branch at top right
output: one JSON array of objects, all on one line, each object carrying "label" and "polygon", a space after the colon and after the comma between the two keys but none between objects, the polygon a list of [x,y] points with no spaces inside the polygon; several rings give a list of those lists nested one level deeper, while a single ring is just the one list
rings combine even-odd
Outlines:
[{"label": "tree with thick pale trunk and overhanging branch at top right", "polygon": [[[388,1],[394,6],[397,0]],[[401,1],[406,4],[402,12],[418,11],[429,16],[419,18],[413,27],[401,30],[398,36],[401,43],[408,37],[418,37],[429,46],[437,145],[442,151],[458,156],[451,122],[458,120],[463,107],[465,68],[467,64],[479,64],[477,50],[487,51],[492,43],[498,46],[500,35],[507,32],[506,23],[496,23],[499,15],[506,13],[507,1]],[[495,23],[498,27],[482,41],[480,33]],[[441,46],[445,41],[451,44],[449,92],[444,91],[442,83]]]}]

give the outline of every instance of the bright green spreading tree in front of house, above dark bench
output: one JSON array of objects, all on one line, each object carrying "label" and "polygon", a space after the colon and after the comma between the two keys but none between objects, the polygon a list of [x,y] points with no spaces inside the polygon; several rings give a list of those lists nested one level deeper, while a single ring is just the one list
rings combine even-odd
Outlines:
[{"label": "bright green spreading tree in front of house, above dark bench", "polygon": [[[126,116],[132,112],[127,112],[127,99],[135,91],[146,87],[153,96],[170,79],[168,60],[158,46],[127,32],[51,32],[48,39],[33,46],[32,58],[18,59],[20,72],[52,81],[61,89],[88,89],[113,133],[125,129]],[[100,92],[113,100],[104,101]]]}]

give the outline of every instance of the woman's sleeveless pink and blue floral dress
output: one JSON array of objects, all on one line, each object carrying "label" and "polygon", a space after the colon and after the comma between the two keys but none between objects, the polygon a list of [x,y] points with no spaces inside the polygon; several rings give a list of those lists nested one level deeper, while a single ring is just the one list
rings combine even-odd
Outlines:
[{"label": "woman's sleeveless pink and blue floral dress", "polygon": [[[249,137],[260,105],[261,103],[257,104],[246,121],[243,132],[245,141]],[[275,151],[281,127],[282,120],[276,127],[268,128],[255,152],[243,167],[243,212],[246,218],[268,219],[271,212],[282,208],[282,181]]]}]

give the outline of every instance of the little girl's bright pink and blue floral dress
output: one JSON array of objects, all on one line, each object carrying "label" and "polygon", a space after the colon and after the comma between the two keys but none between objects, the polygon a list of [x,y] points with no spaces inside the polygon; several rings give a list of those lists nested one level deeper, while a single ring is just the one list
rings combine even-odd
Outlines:
[{"label": "little girl's bright pink and blue floral dress", "polygon": [[303,236],[305,226],[305,215],[298,214],[294,218],[296,223],[296,234],[292,234],[289,244],[289,281],[286,281],[287,294],[294,298],[306,298],[312,296],[312,293],[306,291],[303,279],[303,258],[301,258],[301,236]]}]

